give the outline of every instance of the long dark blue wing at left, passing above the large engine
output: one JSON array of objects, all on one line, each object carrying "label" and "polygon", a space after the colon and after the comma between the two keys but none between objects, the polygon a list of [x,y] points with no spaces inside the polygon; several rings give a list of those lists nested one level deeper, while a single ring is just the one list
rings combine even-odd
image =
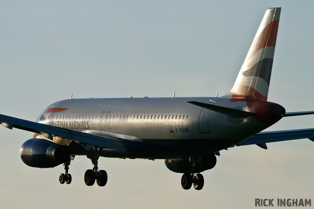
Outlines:
[{"label": "long dark blue wing at left, passing above the large engine", "polygon": [[114,149],[127,153],[126,143],[111,137],[104,135],[96,135],[92,133],[84,133],[74,130],[69,130],[65,128],[50,126],[42,123],[31,122],[27,120],[22,120],[19,118],[13,118],[6,115],[0,114],[0,123],[2,123],[6,128],[18,128],[25,131],[41,133],[47,138],[51,138],[52,134],[62,137],[73,139],[75,141],[93,144],[95,146],[104,147],[108,149]]}]

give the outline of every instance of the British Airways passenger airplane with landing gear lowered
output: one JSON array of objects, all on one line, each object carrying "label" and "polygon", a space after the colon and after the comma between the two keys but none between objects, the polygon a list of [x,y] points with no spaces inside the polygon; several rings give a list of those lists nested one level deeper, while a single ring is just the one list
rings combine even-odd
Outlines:
[{"label": "British Airways passenger airplane with landing gear lowered", "polygon": [[164,159],[183,173],[183,189],[201,190],[205,170],[214,168],[219,151],[235,146],[309,138],[314,128],[261,132],[283,117],[314,114],[286,112],[268,102],[281,8],[268,8],[231,90],[218,97],[85,98],[54,102],[35,122],[0,115],[4,127],[32,132],[21,146],[22,161],[37,168],[64,165],[61,184],[70,184],[69,165],[86,155],[94,165],[85,184],[105,186],[99,157]]}]

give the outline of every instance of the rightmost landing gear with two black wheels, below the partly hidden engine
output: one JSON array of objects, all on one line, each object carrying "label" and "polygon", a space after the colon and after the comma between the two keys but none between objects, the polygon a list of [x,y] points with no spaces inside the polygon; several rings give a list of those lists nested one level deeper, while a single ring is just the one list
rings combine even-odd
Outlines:
[{"label": "rightmost landing gear with two black wheels, below the partly hidden engine", "polygon": [[183,189],[190,189],[193,187],[196,190],[201,190],[204,186],[204,177],[202,174],[194,173],[194,157],[190,157],[191,162],[191,173],[185,173],[181,178],[181,186]]}]

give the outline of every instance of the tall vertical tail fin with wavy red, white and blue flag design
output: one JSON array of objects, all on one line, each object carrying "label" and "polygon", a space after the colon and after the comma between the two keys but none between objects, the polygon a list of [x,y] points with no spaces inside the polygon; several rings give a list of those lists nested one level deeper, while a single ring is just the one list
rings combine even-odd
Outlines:
[{"label": "tall vertical tail fin with wavy red, white and blue flag design", "polygon": [[223,97],[267,101],[280,11],[267,9],[236,82]]}]

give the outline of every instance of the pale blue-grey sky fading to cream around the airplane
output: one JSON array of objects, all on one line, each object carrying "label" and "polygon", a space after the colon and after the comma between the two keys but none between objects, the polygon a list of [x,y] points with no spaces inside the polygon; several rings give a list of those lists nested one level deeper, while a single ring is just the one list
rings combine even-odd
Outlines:
[{"label": "pale blue-grey sky fading to cream around the airplane", "polygon": [[[313,1],[0,1],[0,114],[35,121],[73,98],[214,97],[233,86],[267,8],[282,7],[268,101],[314,110]],[[313,128],[283,118],[267,131]],[[255,198],[314,200],[309,139],[222,150],[200,191],[181,188],[163,160],[100,158],[105,187],[86,186],[93,166],[25,165],[26,131],[0,127],[0,207],[253,208]],[[314,204],[314,202],[313,202]]]}]

